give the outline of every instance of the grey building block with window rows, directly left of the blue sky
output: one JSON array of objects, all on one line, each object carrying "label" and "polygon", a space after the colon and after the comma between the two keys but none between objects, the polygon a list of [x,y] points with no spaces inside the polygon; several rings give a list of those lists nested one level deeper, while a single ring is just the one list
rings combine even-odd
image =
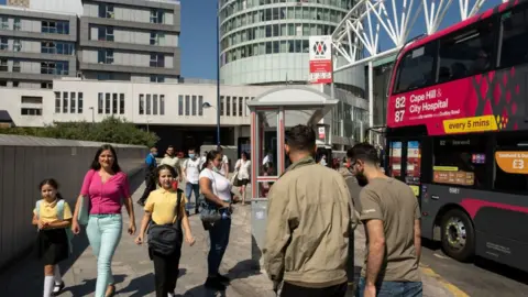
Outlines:
[{"label": "grey building block with window rows, directly left of the blue sky", "polygon": [[178,1],[82,0],[79,26],[79,69],[85,79],[178,80]]}]

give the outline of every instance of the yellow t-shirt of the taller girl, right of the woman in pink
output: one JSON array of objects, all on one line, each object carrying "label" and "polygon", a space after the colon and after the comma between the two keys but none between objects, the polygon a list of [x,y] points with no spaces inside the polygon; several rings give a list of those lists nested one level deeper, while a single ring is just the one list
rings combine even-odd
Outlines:
[{"label": "yellow t-shirt of the taller girl, right of the woman in pink", "polygon": [[[174,223],[176,221],[175,208],[177,204],[177,193],[163,188],[151,191],[145,202],[145,211],[152,213],[152,220],[157,224]],[[185,211],[187,198],[182,194],[180,213]]]}]

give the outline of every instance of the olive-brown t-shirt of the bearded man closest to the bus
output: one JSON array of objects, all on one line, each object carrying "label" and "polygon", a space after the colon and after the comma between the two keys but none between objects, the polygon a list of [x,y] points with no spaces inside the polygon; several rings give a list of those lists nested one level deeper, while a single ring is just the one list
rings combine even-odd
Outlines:
[{"label": "olive-brown t-shirt of the bearded man closest to the bus", "polygon": [[[360,201],[362,221],[383,221],[386,255],[380,278],[385,282],[420,282],[414,237],[420,208],[410,187],[391,177],[376,178],[363,188]],[[366,244],[369,246],[369,237]],[[367,255],[362,276],[365,276],[366,262]]]}]

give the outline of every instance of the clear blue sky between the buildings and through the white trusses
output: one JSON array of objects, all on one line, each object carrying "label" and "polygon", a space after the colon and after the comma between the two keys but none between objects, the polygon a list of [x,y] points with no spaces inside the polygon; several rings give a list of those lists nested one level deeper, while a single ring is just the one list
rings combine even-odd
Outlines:
[{"label": "clear blue sky between the buildings and through the white trusses", "polygon": [[[470,3],[474,3],[471,0]],[[182,48],[182,76],[187,78],[216,79],[216,29],[217,29],[217,0],[180,0],[182,2],[182,34],[179,46]],[[502,0],[487,0],[483,10],[492,8]],[[4,4],[6,0],[0,0]],[[460,20],[458,1],[453,1],[441,28]],[[422,14],[421,14],[422,15]],[[424,19],[418,18],[410,36],[424,32]],[[386,36],[381,37],[383,44],[389,44]],[[384,50],[384,48],[383,48]]]}]

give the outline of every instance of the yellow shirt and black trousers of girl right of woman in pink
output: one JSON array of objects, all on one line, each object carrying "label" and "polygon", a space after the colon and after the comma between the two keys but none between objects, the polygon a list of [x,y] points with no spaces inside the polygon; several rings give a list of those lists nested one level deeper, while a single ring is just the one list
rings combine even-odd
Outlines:
[{"label": "yellow shirt and black trousers of girl right of woman in pink", "polygon": [[[145,204],[145,211],[151,212],[151,219],[156,224],[169,224],[176,222],[177,216],[184,213],[187,198],[182,195],[179,211],[176,213],[177,191],[156,189],[151,193]],[[182,242],[179,243],[182,244]],[[179,274],[179,258],[182,245],[172,255],[162,255],[148,249],[148,256],[154,262],[154,280],[156,297],[166,297],[173,294],[176,288],[176,280]]]}]

